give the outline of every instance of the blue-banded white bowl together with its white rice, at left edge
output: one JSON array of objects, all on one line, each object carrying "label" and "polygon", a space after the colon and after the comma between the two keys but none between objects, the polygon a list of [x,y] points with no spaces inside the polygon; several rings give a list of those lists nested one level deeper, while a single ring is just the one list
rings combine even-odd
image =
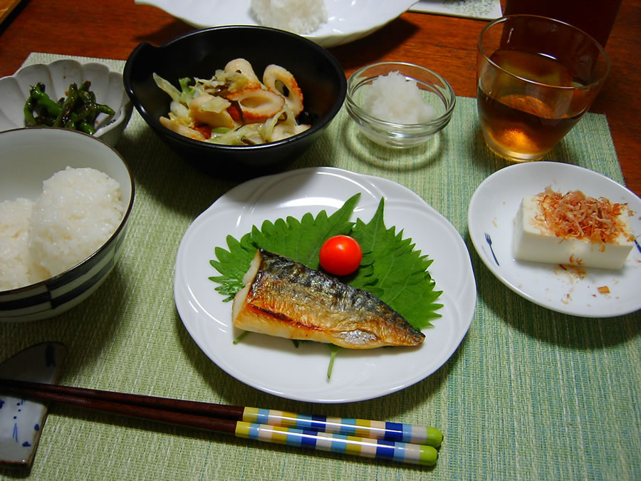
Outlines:
[{"label": "blue-banded white bowl together with its white rice, at left edge", "polygon": [[73,130],[6,130],[0,152],[0,321],[62,314],[115,267],[133,177],[108,143]]}]

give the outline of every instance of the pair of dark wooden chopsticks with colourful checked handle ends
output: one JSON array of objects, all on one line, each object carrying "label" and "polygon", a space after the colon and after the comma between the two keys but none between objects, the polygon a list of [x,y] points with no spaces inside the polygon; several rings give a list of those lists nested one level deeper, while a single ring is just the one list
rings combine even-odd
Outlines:
[{"label": "pair of dark wooden chopsticks with colourful checked handle ends", "polygon": [[0,392],[261,441],[433,465],[437,428],[0,379]]}]

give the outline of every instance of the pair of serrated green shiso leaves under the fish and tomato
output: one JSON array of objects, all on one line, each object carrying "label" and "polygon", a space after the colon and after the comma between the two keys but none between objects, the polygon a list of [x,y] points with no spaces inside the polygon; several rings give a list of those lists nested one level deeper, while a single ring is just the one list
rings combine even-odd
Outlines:
[{"label": "pair of serrated green shiso leaves under the fish and tomato", "polygon": [[243,276],[259,247],[319,269],[318,253],[323,242],[338,234],[348,234],[363,249],[363,262],[355,274],[342,280],[371,292],[416,329],[432,326],[430,320],[441,316],[436,311],[442,307],[434,302],[442,291],[434,290],[436,283],[427,271],[432,259],[415,250],[412,239],[403,239],[402,231],[385,227],[383,199],[370,222],[365,224],[361,219],[350,222],[359,197],[360,194],[353,195],[330,216],[323,210],[316,217],[304,214],[301,220],[293,217],[275,222],[266,220],[260,229],[252,227],[240,241],[227,236],[229,250],[216,247],[217,260],[209,261],[220,275],[209,279],[219,284],[215,289],[225,296],[224,301],[231,301],[242,288]]}]

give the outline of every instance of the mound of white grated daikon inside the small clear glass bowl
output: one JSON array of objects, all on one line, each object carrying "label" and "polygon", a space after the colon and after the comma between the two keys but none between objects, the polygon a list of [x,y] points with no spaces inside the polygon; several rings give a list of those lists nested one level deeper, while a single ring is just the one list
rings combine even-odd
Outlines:
[{"label": "mound of white grated daikon inside the small clear glass bowl", "polygon": [[398,71],[378,76],[363,95],[363,110],[392,123],[423,123],[434,118],[434,108],[425,103],[415,80]]}]

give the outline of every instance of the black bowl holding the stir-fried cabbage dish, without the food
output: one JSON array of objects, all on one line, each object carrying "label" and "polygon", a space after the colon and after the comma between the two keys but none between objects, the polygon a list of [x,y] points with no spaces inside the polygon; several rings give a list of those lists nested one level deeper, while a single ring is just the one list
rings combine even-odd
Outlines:
[{"label": "black bowl holding the stir-fried cabbage dish, without the food", "polygon": [[[303,91],[303,114],[311,128],[263,145],[215,145],[192,140],[160,124],[170,111],[170,96],[152,78],[157,73],[178,86],[182,77],[211,78],[234,58],[246,58],[262,77],[276,63],[290,71]],[[219,26],[187,33],[161,46],[141,43],[125,64],[125,90],[142,118],[185,160],[211,173],[278,165],[301,155],[327,128],[345,100],[347,81],[338,61],[325,48],[294,33],[262,26]]]}]

